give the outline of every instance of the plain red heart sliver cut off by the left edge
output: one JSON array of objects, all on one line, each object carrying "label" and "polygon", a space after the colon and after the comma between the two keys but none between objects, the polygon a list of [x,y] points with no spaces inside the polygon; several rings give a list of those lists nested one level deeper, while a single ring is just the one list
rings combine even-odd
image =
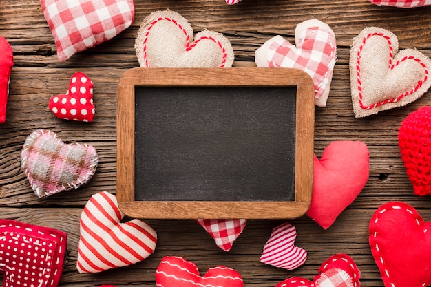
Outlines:
[{"label": "plain red heart sliver cut off by the left edge", "polygon": [[0,55],[0,124],[2,124],[6,121],[10,73],[14,66],[12,47],[2,36],[0,36]]}]

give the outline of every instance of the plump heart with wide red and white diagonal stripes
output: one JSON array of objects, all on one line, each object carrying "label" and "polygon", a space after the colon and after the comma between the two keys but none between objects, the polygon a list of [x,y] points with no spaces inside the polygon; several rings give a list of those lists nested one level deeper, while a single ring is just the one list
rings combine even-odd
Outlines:
[{"label": "plump heart with wide red and white diagonal stripes", "polygon": [[120,223],[124,213],[115,195],[96,193],[81,213],[76,268],[97,273],[140,262],[154,252],[157,234],[142,220]]}]

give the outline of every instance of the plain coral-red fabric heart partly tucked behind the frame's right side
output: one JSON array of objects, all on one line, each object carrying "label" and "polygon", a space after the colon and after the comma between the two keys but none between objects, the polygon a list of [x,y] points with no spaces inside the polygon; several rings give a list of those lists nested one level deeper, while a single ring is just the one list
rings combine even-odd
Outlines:
[{"label": "plain coral-red fabric heart partly tucked behind the frame's right side", "polygon": [[331,142],[320,160],[314,158],[313,195],[306,214],[329,228],[364,188],[369,162],[370,152],[363,142]]}]

